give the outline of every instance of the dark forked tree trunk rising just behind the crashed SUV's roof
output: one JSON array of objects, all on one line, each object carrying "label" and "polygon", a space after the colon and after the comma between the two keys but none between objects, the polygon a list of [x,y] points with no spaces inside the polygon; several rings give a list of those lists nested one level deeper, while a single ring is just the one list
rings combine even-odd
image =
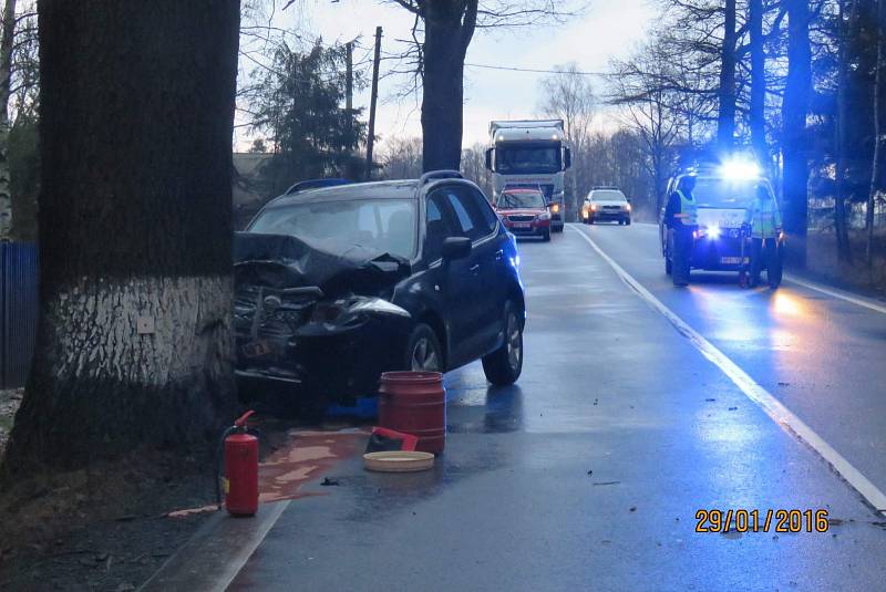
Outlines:
[{"label": "dark forked tree trunk rising just behind the crashed SUV's roof", "polygon": [[457,170],[464,120],[464,56],[474,34],[477,0],[427,0],[423,10],[422,168]]}]

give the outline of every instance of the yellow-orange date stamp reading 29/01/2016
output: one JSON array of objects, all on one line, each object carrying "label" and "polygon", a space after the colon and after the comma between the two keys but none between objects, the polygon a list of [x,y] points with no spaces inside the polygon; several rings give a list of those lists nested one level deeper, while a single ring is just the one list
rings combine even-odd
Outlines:
[{"label": "yellow-orange date stamp reading 29/01/2016", "polygon": [[696,532],[827,532],[827,510],[701,509]]}]

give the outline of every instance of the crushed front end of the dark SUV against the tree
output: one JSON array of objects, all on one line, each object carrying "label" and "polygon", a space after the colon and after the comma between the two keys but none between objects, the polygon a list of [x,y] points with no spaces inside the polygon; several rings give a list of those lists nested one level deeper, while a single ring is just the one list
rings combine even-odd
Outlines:
[{"label": "crushed front end of the dark SUV against the tree", "polygon": [[[238,232],[234,241],[237,374],[346,401],[399,362],[410,313],[392,304],[409,262],[371,248]],[[372,346],[378,343],[378,346]]]}]

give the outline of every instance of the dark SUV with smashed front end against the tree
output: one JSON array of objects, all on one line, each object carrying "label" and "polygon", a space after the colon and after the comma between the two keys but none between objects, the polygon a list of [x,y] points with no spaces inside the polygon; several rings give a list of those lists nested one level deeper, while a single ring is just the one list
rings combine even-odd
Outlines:
[{"label": "dark SUV with smashed front end against the tree", "polygon": [[235,238],[237,375],[348,403],[381,372],[523,367],[514,238],[457,172],[269,202]]}]

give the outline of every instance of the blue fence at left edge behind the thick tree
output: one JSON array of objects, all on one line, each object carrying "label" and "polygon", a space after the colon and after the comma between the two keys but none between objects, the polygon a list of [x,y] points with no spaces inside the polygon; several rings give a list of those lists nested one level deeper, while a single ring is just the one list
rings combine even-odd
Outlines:
[{"label": "blue fence at left edge behind the thick tree", "polygon": [[37,337],[37,245],[0,242],[0,388],[24,386]]}]

